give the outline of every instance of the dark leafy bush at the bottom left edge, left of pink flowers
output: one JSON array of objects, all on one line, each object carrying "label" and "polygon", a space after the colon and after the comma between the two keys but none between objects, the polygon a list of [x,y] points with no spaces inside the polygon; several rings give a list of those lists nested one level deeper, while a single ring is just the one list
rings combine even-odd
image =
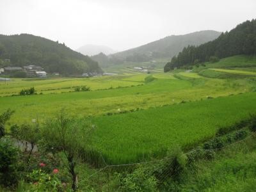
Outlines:
[{"label": "dark leafy bush at the bottom left edge, left of pink flowers", "polygon": [[0,184],[12,186],[19,180],[19,149],[8,138],[0,140]]}]

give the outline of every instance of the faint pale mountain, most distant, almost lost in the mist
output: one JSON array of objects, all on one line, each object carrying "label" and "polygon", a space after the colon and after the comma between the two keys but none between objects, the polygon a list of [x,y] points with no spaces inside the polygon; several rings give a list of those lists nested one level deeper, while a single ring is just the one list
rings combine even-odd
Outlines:
[{"label": "faint pale mountain, most distant, almost lost in the mist", "polygon": [[104,45],[84,45],[83,47],[80,47],[76,51],[81,52],[81,54],[88,55],[88,56],[93,56],[95,54],[99,54],[100,52],[106,55],[113,54],[116,52],[110,47],[107,47]]}]

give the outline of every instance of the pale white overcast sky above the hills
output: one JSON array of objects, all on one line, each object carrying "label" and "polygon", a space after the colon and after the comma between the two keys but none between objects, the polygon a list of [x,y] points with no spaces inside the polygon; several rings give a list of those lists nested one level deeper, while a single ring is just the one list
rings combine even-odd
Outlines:
[{"label": "pale white overcast sky above the hills", "polygon": [[256,0],[0,0],[0,34],[30,33],[72,49],[122,51],[168,35],[229,31],[253,18]]}]

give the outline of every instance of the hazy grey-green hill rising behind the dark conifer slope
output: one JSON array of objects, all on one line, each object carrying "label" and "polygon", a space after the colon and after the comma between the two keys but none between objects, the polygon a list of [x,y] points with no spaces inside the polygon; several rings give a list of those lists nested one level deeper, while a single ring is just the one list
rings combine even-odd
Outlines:
[{"label": "hazy grey-green hill rising behind the dark conifer slope", "polygon": [[117,52],[111,58],[125,61],[149,61],[154,58],[172,58],[188,45],[200,45],[217,38],[221,33],[217,31],[197,31],[186,35],[166,36],[149,44]]}]

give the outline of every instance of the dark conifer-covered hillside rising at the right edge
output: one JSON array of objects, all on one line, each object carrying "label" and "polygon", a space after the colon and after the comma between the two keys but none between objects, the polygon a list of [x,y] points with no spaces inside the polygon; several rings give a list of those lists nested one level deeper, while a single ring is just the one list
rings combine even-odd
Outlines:
[{"label": "dark conifer-covered hillside rising at the right edge", "polygon": [[188,46],[174,56],[172,61],[166,63],[164,71],[175,67],[196,65],[210,60],[218,60],[237,54],[256,54],[256,20],[247,20],[229,32],[221,35],[211,42],[195,46]]}]

